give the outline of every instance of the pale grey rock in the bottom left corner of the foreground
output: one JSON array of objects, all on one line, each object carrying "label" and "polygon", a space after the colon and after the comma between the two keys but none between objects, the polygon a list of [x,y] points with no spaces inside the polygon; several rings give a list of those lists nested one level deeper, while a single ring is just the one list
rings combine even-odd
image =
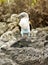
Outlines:
[{"label": "pale grey rock in the bottom left corner of the foreground", "polygon": [[5,54],[2,54],[0,57],[0,65],[18,65],[18,64],[13,62],[9,58],[6,58]]}]

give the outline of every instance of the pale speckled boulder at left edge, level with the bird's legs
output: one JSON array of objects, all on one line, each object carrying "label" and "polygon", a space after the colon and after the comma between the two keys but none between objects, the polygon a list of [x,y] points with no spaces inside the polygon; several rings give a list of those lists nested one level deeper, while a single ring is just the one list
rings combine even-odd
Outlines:
[{"label": "pale speckled boulder at left edge, level with the bird's legs", "polygon": [[15,37],[14,37],[12,31],[7,31],[3,35],[1,35],[0,39],[2,41],[11,41],[11,40],[15,39]]}]

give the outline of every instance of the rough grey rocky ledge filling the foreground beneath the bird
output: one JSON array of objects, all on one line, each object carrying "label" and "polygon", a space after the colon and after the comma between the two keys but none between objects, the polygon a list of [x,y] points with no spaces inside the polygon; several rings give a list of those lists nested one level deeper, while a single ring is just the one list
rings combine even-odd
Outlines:
[{"label": "rough grey rocky ledge filling the foreground beneath the bird", "polygon": [[48,27],[32,30],[31,37],[8,36],[0,37],[0,65],[48,65]]}]

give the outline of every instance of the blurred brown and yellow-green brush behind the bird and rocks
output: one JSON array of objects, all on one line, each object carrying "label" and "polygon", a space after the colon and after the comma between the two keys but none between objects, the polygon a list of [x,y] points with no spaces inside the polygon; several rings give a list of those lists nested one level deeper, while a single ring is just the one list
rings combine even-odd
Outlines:
[{"label": "blurred brown and yellow-green brush behind the bird and rocks", "polygon": [[48,0],[0,0],[2,22],[7,21],[11,14],[23,11],[29,14],[33,28],[48,26]]}]

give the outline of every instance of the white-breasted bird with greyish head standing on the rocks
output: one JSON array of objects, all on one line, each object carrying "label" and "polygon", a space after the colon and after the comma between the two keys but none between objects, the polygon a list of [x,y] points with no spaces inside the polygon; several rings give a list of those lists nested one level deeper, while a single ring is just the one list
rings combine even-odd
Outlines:
[{"label": "white-breasted bird with greyish head standing on the rocks", "polygon": [[30,25],[29,25],[29,15],[26,12],[22,12],[18,15],[20,17],[20,27],[21,27],[21,35],[27,33],[30,36]]}]

